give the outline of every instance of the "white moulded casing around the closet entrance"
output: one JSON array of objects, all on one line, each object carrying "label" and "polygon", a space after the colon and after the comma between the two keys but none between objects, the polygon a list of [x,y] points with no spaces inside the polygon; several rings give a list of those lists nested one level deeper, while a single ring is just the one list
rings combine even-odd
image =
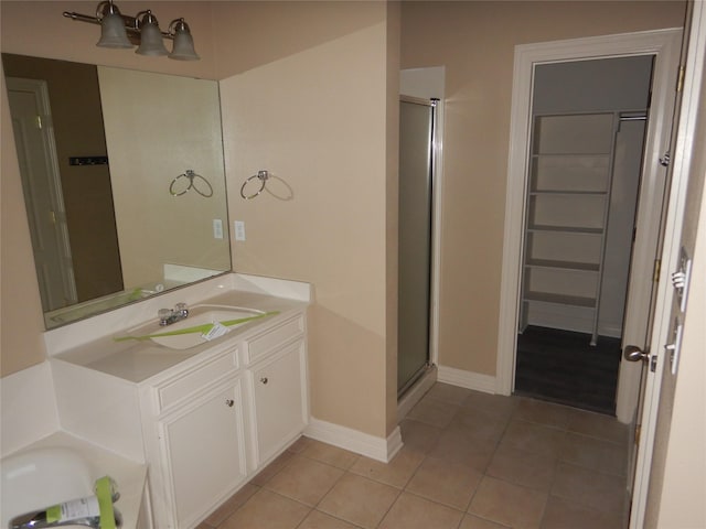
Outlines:
[{"label": "white moulded casing around the closet entrance", "polygon": [[[654,271],[661,251],[663,199],[667,190],[665,154],[672,143],[672,122],[680,72],[682,31],[644,31],[515,46],[513,69],[511,141],[507,165],[505,228],[501,278],[495,390],[511,395],[515,389],[518,306],[524,262],[525,192],[531,158],[534,71],[544,64],[603,58],[653,56],[650,111],[638,198],[638,229],[632,242],[628,301],[622,324],[622,345],[649,347]],[[587,87],[578,87],[585,89]],[[602,88],[593,88],[600,91]],[[642,364],[621,361],[616,397],[616,417],[634,423],[640,402]],[[650,371],[648,371],[649,378]]]}]

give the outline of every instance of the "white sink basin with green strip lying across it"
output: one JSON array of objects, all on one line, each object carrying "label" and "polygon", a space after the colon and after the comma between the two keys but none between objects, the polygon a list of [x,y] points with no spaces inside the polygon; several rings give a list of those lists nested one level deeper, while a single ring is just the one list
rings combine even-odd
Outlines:
[{"label": "white sink basin with green strip lying across it", "polygon": [[[150,339],[170,349],[189,349],[265,315],[263,311],[242,306],[195,305],[190,309],[189,317],[185,320],[165,326],[150,324],[135,328],[128,334],[137,339]],[[221,324],[221,332],[208,335],[217,324]]]}]

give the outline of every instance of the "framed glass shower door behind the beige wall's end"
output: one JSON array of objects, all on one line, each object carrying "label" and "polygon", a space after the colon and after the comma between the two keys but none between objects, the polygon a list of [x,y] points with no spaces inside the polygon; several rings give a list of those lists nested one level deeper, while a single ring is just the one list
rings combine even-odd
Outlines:
[{"label": "framed glass shower door behind the beige wall's end", "polygon": [[434,102],[399,105],[397,395],[429,361]]}]

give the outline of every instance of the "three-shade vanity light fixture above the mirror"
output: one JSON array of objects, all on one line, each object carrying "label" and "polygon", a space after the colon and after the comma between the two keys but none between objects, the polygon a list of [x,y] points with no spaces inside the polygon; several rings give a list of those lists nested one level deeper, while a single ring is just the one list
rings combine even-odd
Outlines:
[{"label": "three-shade vanity light fixture above the mirror", "polygon": [[[64,17],[79,22],[99,24],[100,39],[96,43],[99,47],[131,48],[138,45],[135,53],[140,55],[167,55],[178,61],[201,58],[194,50],[194,40],[184,19],[172,20],[168,30],[161,31],[157,17],[149,9],[129,17],[121,14],[113,0],[99,2],[95,17],[69,11],[64,11]],[[171,53],[164,47],[163,39],[173,41]]]}]

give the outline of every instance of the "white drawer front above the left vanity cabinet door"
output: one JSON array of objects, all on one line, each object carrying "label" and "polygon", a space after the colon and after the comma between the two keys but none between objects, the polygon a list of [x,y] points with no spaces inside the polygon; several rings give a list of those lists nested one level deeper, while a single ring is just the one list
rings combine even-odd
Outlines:
[{"label": "white drawer front above the left vanity cabinet door", "polygon": [[208,386],[224,375],[236,371],[238,367],[238,347],[232,347],[203,366],[161,384],[156,388],[157,413],[169,409],[183,398]]}]

